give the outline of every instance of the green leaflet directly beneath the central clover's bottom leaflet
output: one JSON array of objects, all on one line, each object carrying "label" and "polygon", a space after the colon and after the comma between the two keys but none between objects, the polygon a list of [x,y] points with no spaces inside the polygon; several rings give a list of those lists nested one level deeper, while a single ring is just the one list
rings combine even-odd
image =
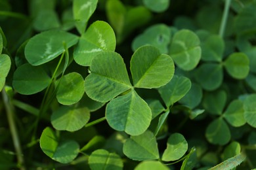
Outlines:
[{"label": "green leaflet directly beneath the central clover's bottom leaflet", "polygon": [[158,143],[151,131],[139,136],[131,136],[123,144],[123,153],[132,160],[157,160],[159,158]]}]

